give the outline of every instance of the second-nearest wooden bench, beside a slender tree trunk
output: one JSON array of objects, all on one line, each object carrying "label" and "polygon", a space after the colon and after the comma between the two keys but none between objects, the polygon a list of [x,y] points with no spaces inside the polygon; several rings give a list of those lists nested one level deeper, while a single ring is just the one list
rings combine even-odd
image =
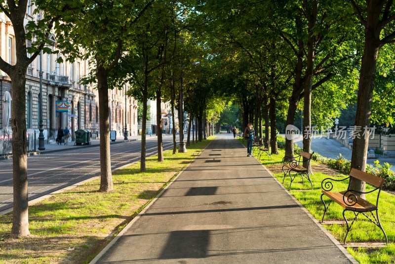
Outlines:
[{"label": "second-nearest wooden bench, beside a slender tree trunk", "polygon": [[[282,159],[282,172],[284,173],[284,177],[282,178],[282,183],[284,183],[285,176],[288,174],[291,178],[291,182],[289,183],[289,190],[291,189],[291,184],[296,176],[299,174],[302,177],[302,184],[305,183],[303,177],[307,178],[310,181],[313,189],[313,182],[310,179],[309,170],[304,168],[302,165],[304,162],[307,162],[307,168],[310,166],[310,161],[313,157],[313,154],[310,154],[306,151],[301,151],[299,156],[296,157],[287,157],[285,156]],[[291,172],[294,172],[294,176],[291,175]]]}]

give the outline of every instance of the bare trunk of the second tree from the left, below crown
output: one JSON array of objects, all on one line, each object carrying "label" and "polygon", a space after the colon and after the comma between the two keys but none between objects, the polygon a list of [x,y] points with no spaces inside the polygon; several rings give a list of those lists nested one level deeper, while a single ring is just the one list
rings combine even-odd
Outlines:
[{"label": "bare trunk of the second tree from the left, below crown", "polygon": [[102,66],[97,66],[97,90],[99,93],[100,119],[100,192],[114,190],[111,173],[110,125],[108,104],[108,73]]}]

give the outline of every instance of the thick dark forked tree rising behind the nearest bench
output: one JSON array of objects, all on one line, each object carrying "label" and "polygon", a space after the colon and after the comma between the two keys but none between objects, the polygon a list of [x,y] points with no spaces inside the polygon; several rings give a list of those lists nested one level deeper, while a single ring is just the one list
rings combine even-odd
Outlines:
[{"label": "thick dark forked tree rising behind the nearest bench", "polygon": [[[370,126],[372,116],[372,99],[376,74],[376,62],[379,50],[395,40],[395,12],[393,0],[350,0],[359,23],[364,29],[364,47],[359,74],[358,97],[356,103],[355,126],[361,128],[353,142],[351,167],[366,170],[368,137],[362,133]],[[364,191],[363,181],[354,179],[350,186],[356,191]]]}]

